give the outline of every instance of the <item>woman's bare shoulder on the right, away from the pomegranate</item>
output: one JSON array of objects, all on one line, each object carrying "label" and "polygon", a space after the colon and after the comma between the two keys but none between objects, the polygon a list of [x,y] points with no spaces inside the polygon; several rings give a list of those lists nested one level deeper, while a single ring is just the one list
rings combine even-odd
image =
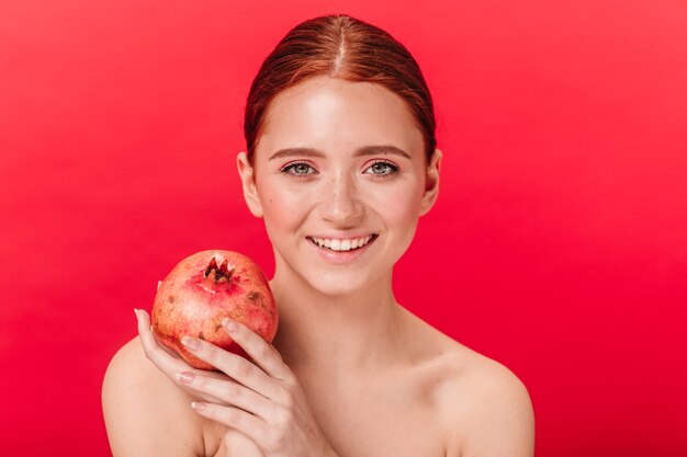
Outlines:
[{"label": "woman's bare shoulder on the right, away from the pomegranate", "polygon": [[447,456],[531,457],[534,415],[522,381],[503,364],[416,323],[427,341],[426,373],[446,429]]}]

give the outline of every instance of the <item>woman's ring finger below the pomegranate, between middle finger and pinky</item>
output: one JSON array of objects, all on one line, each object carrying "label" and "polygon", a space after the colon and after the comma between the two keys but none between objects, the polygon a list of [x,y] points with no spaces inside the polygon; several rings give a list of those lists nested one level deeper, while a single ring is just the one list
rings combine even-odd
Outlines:
[{"label": "woman's ring finger below the pomegranate, between middle finger and pinky", "polygon": [[266,399],[255,390],[229,379],[210,378],[190,372],[179,373],[178,378],[180,382],[190,388],[219,399],[221,403],[240,408],[263,420],[270,416],[270,412],[275,407],[274,402]]}]

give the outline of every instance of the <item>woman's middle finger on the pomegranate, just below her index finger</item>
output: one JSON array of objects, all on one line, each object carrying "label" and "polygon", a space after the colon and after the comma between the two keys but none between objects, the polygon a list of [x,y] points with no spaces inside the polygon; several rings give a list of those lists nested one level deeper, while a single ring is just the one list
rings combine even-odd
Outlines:
[{"label": "woman's middle finger on the pomegranate, just below her index finger", "polygon": [[281,388],[278,380],[271,378],[260,367],[240,355],[224,351],[213,343],[198,338],[183,336],[181,343],[201,361],[207,362],[262,397],[274,401],[282,400],[283,396],[280,395]]}]

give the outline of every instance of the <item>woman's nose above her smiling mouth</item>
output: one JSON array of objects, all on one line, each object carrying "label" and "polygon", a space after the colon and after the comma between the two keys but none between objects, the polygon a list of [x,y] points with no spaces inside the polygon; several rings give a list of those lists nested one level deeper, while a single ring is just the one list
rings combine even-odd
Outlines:
[{"label": "woman's nose above her smiling mouth", "polygon": [[353,226],[361,219],[364,207],[359,198],[356,180],[350,173],[333,174],[320,192],[319,213],[323,219],[337,226]]}]

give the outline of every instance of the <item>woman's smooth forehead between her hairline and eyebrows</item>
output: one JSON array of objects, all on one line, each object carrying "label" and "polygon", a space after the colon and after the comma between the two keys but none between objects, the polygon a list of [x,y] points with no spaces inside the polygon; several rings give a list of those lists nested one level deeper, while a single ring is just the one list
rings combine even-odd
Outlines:
[{"label": "woman's smooth forehead between her hairline and eyebrows", "polygon": [[257,152],[285,147],[350,152],[372,145],[424,153],[423,135],[405,101],[380,84],[319,77],[272,100]]}]

